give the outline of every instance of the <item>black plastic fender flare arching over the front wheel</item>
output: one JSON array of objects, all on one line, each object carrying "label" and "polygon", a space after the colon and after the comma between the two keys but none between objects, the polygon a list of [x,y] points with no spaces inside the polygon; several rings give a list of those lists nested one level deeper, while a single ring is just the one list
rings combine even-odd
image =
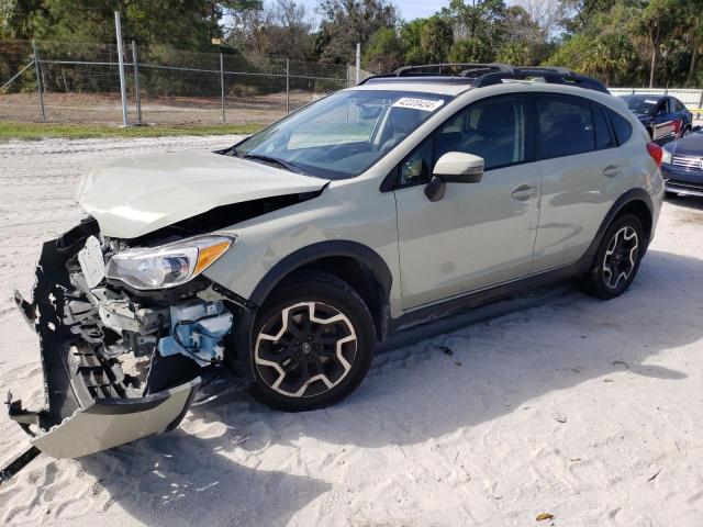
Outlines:
[{"label": "black plastic fender flare arching over the front wheel", "polygon": [[309,245],[282,258],[254,288],[249,301],[260,306],[274,288],[291,272],[321,258],[339,256],[355,259],[368,269],[381,285],[386,299],[389,298],[393,276],[383,258],[370,247],[358,242],[331,239]]}]

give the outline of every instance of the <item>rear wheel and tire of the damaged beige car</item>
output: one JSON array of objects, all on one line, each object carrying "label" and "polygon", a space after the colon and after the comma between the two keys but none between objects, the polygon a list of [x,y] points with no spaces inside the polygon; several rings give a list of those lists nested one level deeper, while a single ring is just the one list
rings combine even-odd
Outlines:
[{"label": "rear wheel and tire of the damaged beige car", "polygon": [[577,285],[598,299],[620,296],[635,279],[645,249],[641,222],[623,214],[605,232],[590,269],[577,279]]}]

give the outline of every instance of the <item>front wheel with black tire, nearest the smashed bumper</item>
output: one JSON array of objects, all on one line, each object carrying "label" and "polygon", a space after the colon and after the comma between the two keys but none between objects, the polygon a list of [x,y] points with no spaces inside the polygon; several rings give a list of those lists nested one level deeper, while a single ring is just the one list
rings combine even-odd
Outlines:
[{"label": "front wheel with black tire, nearest the smashed bumper", "polygon": [[376,335],[346,282],[301,273],[278,287],[254,324],[254,394],[278,410],[308,411],[347,396],[366,377]]}]

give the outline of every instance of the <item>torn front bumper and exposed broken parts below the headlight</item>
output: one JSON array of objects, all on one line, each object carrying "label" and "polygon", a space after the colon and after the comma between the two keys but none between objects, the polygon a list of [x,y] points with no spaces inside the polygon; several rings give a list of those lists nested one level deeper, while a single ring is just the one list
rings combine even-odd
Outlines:
[{"label": "torn front bumper and exposed broken parts below the headlight", "polygon": [[9,414],[56,458],[177,427],[232,337],[238,307],[202,277],[144,294],[111,280],[116,245],[88,218],[44,244],[32,301],[15,293],[40,337],[45,404],[10,395]]}]

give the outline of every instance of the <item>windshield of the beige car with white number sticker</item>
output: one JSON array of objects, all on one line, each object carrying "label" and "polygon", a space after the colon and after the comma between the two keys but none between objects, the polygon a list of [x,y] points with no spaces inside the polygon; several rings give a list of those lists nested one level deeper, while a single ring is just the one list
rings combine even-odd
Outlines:
[{"label": "windshield of the beige car with white number sticker", "polygon": [[326,179],[358,176],[451,98],[411,91],[341,91],[235,146],[237,157]]}]

